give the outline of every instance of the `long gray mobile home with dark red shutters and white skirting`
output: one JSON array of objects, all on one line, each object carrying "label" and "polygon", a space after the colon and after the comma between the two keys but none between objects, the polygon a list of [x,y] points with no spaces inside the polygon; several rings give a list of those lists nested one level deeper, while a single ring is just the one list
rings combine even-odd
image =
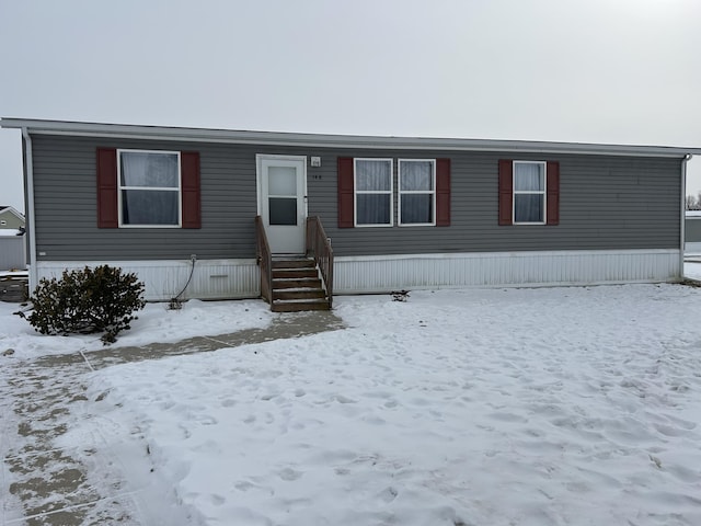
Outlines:
[{"label": "long gray mobile home with dark red shutters and white skirting", "polygon": [[701,149],[3,118],[24,137],[30,281],[111,263],[149,299],[261,294],[256,227],[334,291],[674,282]]}]

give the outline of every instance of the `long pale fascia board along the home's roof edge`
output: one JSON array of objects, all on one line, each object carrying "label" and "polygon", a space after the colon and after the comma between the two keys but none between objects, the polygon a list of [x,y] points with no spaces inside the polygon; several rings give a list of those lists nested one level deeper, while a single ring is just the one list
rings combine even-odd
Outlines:
[{"label": "long pale fascia board along the home's roof edge", "polygon": [[295,134],[285,132],[243,132],[207,128],[137,126],[59,121],[2,118],[0,127],[25,128],[32,135],[71,137],[111,137],[120,139],[181,140],[262,146],[297,146],[307,148],[399,149],[499,151],[522,153],[598,155],[623,157],[671,157],[701,155],[701,148],[666,146],[595,145],[527,140],[449,139],[423,137],[379,137],[356,135]]}]

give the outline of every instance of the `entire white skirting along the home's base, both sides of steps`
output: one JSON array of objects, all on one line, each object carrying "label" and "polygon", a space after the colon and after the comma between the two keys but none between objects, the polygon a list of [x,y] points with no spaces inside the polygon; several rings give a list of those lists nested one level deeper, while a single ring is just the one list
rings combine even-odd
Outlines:
[{"label": "entire white skirting along the home's base, both sides of steps", "polygon": [[[471,286],[593,285],[659,283],[681,277],[679,250],[606,250],[375,255],[334,259],[334,293]],[[146,299],[173,298],[187,283],[191,262],[39,262],[38,278],[60,277],[65,268],[101,264],[134,272],[146,284]],[[32,273],[30,273],[31,275]],[[181,298],[255,298],[261,277],[255,260],[198,260]],[[32,289],[36,284],[30,284]]]}]

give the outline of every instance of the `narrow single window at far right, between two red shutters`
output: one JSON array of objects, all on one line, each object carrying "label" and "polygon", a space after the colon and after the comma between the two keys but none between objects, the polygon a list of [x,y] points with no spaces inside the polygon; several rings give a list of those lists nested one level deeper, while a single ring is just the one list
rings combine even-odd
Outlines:
[{"label": "narrow single window at far right, between two red shutters", "polygon": [[545,162],[514,161],[514,225],[545,224]]}]

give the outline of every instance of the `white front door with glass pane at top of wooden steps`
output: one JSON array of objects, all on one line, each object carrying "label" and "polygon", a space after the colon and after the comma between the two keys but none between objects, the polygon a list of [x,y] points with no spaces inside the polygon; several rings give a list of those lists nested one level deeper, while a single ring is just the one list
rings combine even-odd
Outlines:
[{"label": "white front door with glass pane at top of wooden steps", "polygon": [[274,254],[304,253],[307,158],[256,156],[258,211]]}]

